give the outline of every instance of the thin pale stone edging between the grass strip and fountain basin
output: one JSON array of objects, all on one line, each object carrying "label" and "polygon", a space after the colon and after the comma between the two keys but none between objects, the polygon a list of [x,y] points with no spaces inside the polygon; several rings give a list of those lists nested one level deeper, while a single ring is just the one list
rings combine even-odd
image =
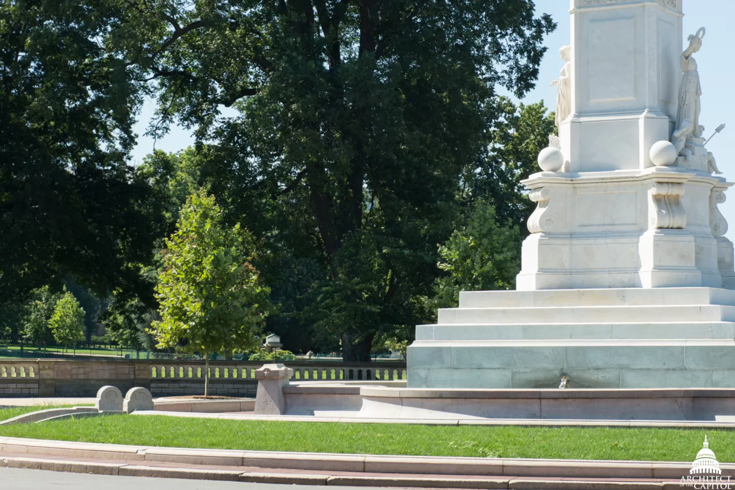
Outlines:
[{"label": "thin pale stone edging between the grass strip and fountain basin", "polygon": [[520,425],[523,427],[657,427],[657,428],[735,428],[732,422],[697,420],[573,420],[573,419],[376,419],[368,417],[315,417],[312,415],[245,415],[180,411],[135,411],[131,415],[193,417],[197,419],[267,420],[269,422],[337,422],[343,424],[417,424],[417,425]]}]

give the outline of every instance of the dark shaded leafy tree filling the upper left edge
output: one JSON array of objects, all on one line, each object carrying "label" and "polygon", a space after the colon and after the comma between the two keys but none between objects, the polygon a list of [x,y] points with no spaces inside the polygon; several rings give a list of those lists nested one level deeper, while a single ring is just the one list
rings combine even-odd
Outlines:
[{"label": "dark shaded leafy tree filling the upper left edge", "polygon": [[0,2],[0,298],[73,275],[142,287],[156,206],[126,165],[143,84],[110,48],[119,2]]}]

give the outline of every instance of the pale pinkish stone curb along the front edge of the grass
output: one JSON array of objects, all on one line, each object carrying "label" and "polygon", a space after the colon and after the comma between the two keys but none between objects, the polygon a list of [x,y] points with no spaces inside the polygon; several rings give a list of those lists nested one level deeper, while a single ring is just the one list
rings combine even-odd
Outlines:
[{"label": "pale pinkish stone curb along the front edge of the grass", "polygon": [[[318,472],[476,475],[513,478],[675,479],[689,474],[689,463],[654,461],[586,461],[513,458],[392,456],[331,453],[207,450],[126,446],[43,439],[0,437],[0,451],[29,455],[148,461],[192,465],[297,469]],[[720,464],[735,474],[735,464]]]}]

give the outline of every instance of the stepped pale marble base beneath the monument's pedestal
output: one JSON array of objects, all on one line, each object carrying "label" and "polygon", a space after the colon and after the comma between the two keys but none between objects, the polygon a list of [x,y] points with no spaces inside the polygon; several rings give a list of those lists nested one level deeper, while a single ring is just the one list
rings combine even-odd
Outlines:
[{"label": "stepped pale marble base beneath the monument's pedestal", "polygon": [[409,388],[735,388],[735,291],[462,292],[419,325]]}]

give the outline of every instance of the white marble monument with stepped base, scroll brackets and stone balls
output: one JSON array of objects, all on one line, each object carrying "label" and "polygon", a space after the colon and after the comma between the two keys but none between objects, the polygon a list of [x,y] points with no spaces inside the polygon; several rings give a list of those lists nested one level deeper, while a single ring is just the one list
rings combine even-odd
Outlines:
[{"label": "white marble monument with stepped base, scroll brackets and stone balls", "polygon": [[419,325],[410,387],[735,387],[732,184],[705,148],[706,30],[684,40],[682,2],[571,0],[517,291]]}]

